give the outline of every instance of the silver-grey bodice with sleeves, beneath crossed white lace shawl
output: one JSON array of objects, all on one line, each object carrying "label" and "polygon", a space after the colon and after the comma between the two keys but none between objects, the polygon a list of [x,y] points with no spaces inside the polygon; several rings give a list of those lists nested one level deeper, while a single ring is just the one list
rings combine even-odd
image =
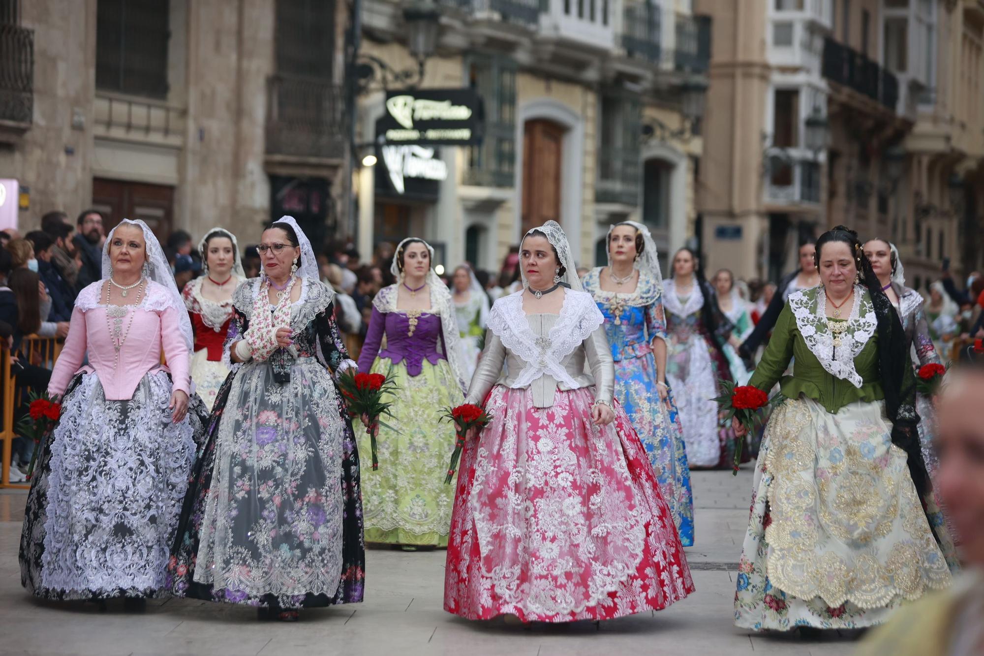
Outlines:
[{"label": "silver-grey bodice with sleeves, beneath crossed white lace shawl", "polygon": [[[557,314],[530,314],[526,316],[529,328],[537,336],[537,341],[542,341],[541,346],[544,349],[549,344],[550,330],[557,323],[558,318]],[[585,362],[590,372],[585,370]],[[506,364],[505,372],[503,372],[503,363]],[[597,328],[588,335],[580,346],[576,347],[561,361],[561,364],[576,385],[572,387],[544,373],[528,385],[534,406],[537,408],[551,407],[554,403],[554,392],[557,389],[569,390],[590,385],[595,386],[594,398],[596,401],[603,401],[611,405],[615,387],[615,369],[604,328]],[[471,378],[471,385],[468,387],[465,402],[481,404],[496,383],[506,387],[523,387],[524,385],[516,385],[516,378],[525,366],[526,362],[507,349],[499,336],[490,330],[486,337],[482,359]]]}]

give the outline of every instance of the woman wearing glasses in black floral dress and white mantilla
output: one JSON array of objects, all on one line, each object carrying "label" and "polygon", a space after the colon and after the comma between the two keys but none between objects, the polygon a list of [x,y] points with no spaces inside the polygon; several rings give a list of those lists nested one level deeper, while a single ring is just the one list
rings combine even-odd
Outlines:
[{"label": "woman wearing glasses in black floral dress and white mantilla", "polygon": [[362,601],[355,438],[332,371],[354,366],[291,217],[264,231],[264,275],[232,295],[232,367],[192,472],[170,562],[175,595],[269,607]]}]

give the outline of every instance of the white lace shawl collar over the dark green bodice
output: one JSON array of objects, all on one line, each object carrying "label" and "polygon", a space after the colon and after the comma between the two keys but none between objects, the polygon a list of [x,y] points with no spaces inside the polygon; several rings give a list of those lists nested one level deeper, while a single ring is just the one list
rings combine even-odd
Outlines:
[{"label": "white lace shawl collar over the dark green bodice", "polygon": [[860,285],[854,286],[854,304],[847,318],[847,328],[840,334],[840,346],[833,348],[833,333],[827,319],[827,295],[823,287],[801,290],[789,295],[789,309],[796,317],[803,341],[810,353],[831,374],[855,387],[863,382],[854,359],[875,334],[878,320],[871,297]]}]

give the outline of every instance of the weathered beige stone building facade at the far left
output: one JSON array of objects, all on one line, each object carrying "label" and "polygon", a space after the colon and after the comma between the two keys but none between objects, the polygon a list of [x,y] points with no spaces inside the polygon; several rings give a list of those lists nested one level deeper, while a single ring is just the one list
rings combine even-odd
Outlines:
[{"label": "weathered beige stone building facade at the far left", "polygon": [[256,241],[280,214],[333,233],[348,23],[334,0],[0,1],[0,178],[27,188],[20,225],[94,206],[160,236]]}]

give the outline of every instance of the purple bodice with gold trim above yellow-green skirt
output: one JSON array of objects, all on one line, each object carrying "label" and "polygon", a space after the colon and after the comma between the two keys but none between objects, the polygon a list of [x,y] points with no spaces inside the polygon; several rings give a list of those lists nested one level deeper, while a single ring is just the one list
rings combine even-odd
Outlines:
[{"label": "purple bodice with gold trim above yellow-green skirt", "polygon": [[[384,332],[386,348],[380,349]],[[438,340],[444,350],[440,316],[429,312],[420,312],[416,316],[406,311],[380,312],[374,307],[369,332],[359,354],[359,371],[372,368],[376,358],[389,358],[394,364],[406,361],[406,372],[411,376],[419,375],[424,359],[431,364],[445,360],[438,351]]]}]

